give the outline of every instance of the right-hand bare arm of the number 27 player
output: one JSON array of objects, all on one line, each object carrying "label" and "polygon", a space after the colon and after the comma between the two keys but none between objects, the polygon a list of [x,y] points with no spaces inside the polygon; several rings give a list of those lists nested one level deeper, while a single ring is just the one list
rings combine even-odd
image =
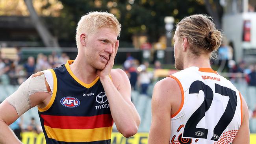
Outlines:
[{"label": "right-hand bare arm of the number 27 player", "polygon": [[249,144],[250,143],[249,112],[243,96],[242,96],[242,102],[243,102],[243,122],[232,144]]}]

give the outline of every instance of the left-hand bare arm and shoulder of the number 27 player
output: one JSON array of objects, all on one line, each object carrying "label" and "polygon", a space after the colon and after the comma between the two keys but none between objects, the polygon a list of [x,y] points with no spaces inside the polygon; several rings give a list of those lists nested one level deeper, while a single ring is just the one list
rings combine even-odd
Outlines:
[{"label": "left-hand bare arm and shoulder of the number 27 player", "polygon": [[181,97],[180,88],[172,78],[158,81],[152,96],[152,122],[148,144],[169,144],[171,136],[171,111],[173,98]]}]

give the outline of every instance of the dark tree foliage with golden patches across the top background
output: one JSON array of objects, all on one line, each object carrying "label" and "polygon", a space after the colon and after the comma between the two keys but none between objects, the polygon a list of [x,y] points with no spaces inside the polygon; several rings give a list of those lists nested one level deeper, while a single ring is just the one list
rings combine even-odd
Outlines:
[{"label": "dark tree foliage with golden patches across the top background", "polygon": [[[0,15],[28,15],[23,0],[0,2]],[[33,0],[34,9],[61,47],[75,47],[76,25],[89,11],[108,11],[122,24],[121,47],[132,47],[132,36],[146,35],[157,42],[165,35],[164,18],[173,16],[174,25],[182,18],[207,13],[221,29],[223,9],[219,0]],[[15,5],[16,4],[16,5]]]}]

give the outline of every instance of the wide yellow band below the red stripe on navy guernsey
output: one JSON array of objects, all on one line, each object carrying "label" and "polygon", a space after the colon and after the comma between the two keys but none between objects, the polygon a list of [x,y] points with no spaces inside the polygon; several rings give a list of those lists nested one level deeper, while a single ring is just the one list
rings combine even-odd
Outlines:
[{"label": "wide yellow band below the red stripe on navy guernsey", "polygon": [[48,138],[63,142],[93,142],[111,138],[112,127],[94,129],[58,129],[45,126]]}]

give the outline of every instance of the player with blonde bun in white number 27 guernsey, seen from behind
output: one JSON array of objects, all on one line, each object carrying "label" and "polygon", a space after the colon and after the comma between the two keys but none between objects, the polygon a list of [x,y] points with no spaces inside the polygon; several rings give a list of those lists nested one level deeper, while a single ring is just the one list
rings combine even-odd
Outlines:
[{"label": "player with blonde bun in white number 27 guernsey, seen from behind", "polygon": [[185,17],[173,39],[181,71],[154,87],[148,144],[249,144],[247,104],[210,66],[222,40],[211,18]]}]

